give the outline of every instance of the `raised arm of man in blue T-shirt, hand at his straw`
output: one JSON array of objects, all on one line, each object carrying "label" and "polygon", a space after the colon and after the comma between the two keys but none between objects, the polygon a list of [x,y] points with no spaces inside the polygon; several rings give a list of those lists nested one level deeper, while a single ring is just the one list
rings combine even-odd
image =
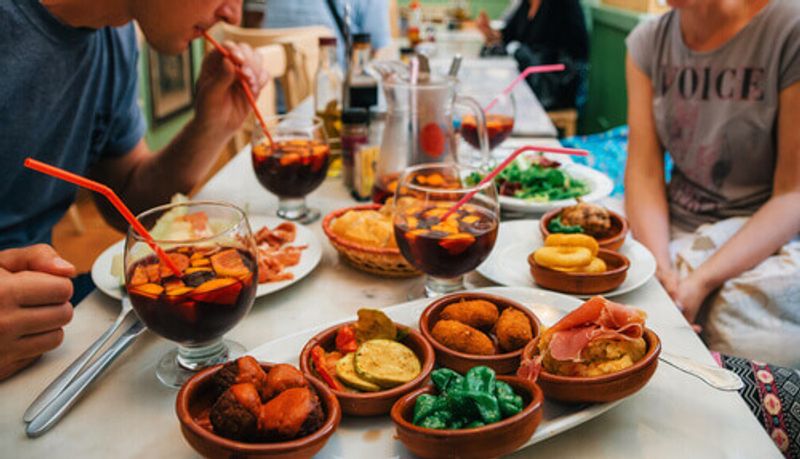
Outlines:
[{"label": "raised arm of man in blue T-shirt, hand at his straw", "polygon": [[[268,79],[259,54],[247,45],[226,46],[243,63],[243,72],[257,97]],[[203,62],[197,81],[195,116],[175,139],[157,153],[139,141],[127,155],[99,161],[90,176],[113,188],[134,213],[164,204],[175,193],[188,193],[208,174],[249,112],[234,65],[213,51]],[[104,199],[97,202],[109,223],[120,229],[126,227]]]}]

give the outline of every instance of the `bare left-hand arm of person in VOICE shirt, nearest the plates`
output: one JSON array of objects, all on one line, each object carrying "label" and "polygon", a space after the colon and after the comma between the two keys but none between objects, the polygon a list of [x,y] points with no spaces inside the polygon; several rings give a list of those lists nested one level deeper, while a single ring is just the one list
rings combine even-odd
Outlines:
[{"label": "bare left-hand arm of person in VOICE shirt, nearest the plates", "polygon": [[670,294],[677,273],[669,257],[669,207],[664,178],[664,150],[653,117],[653,87],[630,56],[628,85],[628,162],[625,166],[625,212],[634,237],[656,257],[657,276]]}]

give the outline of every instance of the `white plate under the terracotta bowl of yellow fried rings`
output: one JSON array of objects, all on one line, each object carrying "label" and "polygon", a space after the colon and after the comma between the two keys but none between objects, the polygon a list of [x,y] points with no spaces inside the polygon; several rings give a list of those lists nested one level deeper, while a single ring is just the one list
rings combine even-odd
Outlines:
[{"label": "white plate under the terracotta bowl of yellow fried rings", "polygon": [[[487,279],[509,287],[537,287],[531,276],[528,255],[541,247],[542,233],[539,220],[514,220],[500,223],[497,242],[489,258],[478,266],[478,272]],[[656,259],[642,244],[630,236],[619,251],[631,261],[625,281],[616,289],[603,295],[622,295],[644,285],[656,273]],[[590,295],[576,295],[588,298]]]}]

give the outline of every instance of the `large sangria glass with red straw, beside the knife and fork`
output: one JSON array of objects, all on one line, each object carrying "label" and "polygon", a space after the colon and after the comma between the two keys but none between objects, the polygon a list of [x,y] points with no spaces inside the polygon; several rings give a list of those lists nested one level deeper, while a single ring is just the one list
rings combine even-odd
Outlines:
[{"label": "large sangria glass with red straw, beside the knife and fork", "polygon": [[180,272],[159,260],[133,229],[125,239],[125,286],[139,319],[178,343],[156,375],[180,387],[194,372],[245,348],[222,336],[250,311],[258,286],[257,251],[238,207],[216,201],[168,204],[137,217]]}]

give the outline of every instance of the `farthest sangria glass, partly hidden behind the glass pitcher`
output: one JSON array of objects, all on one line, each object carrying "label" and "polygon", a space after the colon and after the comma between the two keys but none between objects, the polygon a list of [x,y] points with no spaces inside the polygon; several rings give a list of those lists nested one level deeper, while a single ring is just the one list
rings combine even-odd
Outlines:
[{"label": "farthest sangria glass, partly hidden behind the glass pitcher", "polygon": [[[514,130],[514,120],[516,119],[517,105],[514,100],[514,95],[500,94],[497,102],[494,103],[489,110],[485,107],[492,101],[494,94],[488,94],[485,91],[475,91],[468,93],[470,97],[477,100],[481,107],[484,107],[484,115],[486,117],[486,135],[489,138],[489,151],[494,150],[498,145],[503,143],[511,136]],[[473,148],[479,149],[480,143],[478,138],[478,127],[475,116],[471,114],[464,115],[461,118],[461,137],[470,144]]]}]

